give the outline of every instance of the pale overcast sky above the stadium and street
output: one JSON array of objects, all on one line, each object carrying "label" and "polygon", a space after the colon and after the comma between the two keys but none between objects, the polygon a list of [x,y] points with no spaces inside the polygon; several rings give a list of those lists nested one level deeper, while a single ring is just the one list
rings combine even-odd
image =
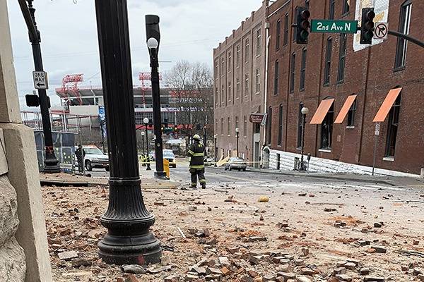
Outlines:
[{"label": "pale overcast sky above the stadium and street", "polygon": [[[76,4],[73,4],[76,1]],[[138,73],[149,71],[144,16],[160,16],[160,71],[179,60],[201,61],[212,66],[212,49],[261,6],[261,0],[127,0],[131,40],[133,83]],[[8,0],[9,21],[21,107],[25,94],[33,91],[33,55],[18,1]],[[42,38],[48,94],[60,104],[54,88],[67,74],[83,73],[83,86],[101,85],[94,0],[34,1]]]}]

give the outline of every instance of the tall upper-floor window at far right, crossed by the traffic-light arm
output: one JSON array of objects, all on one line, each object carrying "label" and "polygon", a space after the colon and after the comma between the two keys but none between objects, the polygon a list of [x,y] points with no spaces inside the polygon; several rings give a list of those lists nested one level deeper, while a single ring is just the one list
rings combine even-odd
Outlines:
[{"label": "tall upper-floor window at far right, crossed by the traffic-light arm", "polygon": [[[411,24],[411,9],[412,1],[407,0],[401,6],[401,15],[399,18],[399,32],[404,33],[405,35],[409,34],[409,26]],[[394,61],[394,68],[404,68],[406,64],[406,52],[408,50],[408,42],[398,37],[397,46],[396,46],[396,56]]]}]

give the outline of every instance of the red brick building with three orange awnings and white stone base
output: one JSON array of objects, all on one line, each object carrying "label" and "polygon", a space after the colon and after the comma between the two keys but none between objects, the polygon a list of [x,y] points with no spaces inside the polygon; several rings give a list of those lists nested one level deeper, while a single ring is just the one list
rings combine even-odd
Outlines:
[{"label": "red brick building with three orange awnings and white stone base", "polygon": [[[311,18],[354,20],[355,11],[362,8],[357,1],[277,0],[267,8],[269,118],[264,161],[269,159],[271,167],[293,169],[301,145],[300,109],[305,106],[310,111],[305,153],[312,155],[311,169],[370,171],[375,146],[373,120],[390,90],[401,88],[387,98],[393,101],[387,101],[389,112],[382,114],[376,167],[409,173],[424,168],[423,48],[390,35],[359,51],[353,49],[353,35],[311,33],[308,44],[294,41],[290,25],[295,23],[297,6],[309,6]],[[424,41],[424,1],[390,0],[388,13],[376,12],[377,22],[387,17],[390,30],[408,32]],[[346,116],[339,116],[345,104]],[[310,124],[312,117],[316,124]],[[335,123],[336,118],[341,123]]]}]

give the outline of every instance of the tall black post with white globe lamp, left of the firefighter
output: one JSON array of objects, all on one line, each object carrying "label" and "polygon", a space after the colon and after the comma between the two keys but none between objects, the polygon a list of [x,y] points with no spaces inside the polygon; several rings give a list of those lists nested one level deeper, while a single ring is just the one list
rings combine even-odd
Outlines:
[{"label": "tall black post with white globe lamp, left of the firefighter", "polygon": [[151,60],[151,82],[153,97],[153,128],[155,130],[155,155],[156,155],[156,171],[157,178],[166,178],[163,171],[163,144],[162,144],[162,121],[160,117],[160,85],[159,85],[159,17],[155,15],[146,15],[146,38],[147,47]]}]

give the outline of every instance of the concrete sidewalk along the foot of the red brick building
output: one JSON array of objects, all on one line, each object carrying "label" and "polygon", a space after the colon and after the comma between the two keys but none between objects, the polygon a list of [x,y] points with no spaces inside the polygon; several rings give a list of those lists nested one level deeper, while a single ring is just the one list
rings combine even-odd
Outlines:
[{"label": "concrete sidewalk along the foot of the red brick building", "polygon": [[[213,169],[221,169],[211,166]],[[223,168],[222,168],[223,169]],[[305,173],[301,171],[278,171],[269,168],[252,168],[248,167],[247,171],[255,173],[269,173],[285,176],[299,176],[309,178],[321,178],[338,181],[355,181],[372,184],[384,184],[401,187],[424,188],[424,178],[401,177],[401,176],[367,176],[362,174],[347,174],[347,173]]]}]

